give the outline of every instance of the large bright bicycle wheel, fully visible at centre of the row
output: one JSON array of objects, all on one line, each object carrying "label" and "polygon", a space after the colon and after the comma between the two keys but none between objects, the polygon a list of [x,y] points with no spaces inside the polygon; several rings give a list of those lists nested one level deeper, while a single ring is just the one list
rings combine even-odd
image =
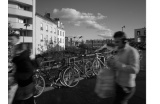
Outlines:
[{"label": "large bright bicycle wheel, fully visible at centre of the row", "polygon": [[79,83],[79,72],[76,68],[68,67],[63,73],[63,81],[68,87],[75,87]]}]

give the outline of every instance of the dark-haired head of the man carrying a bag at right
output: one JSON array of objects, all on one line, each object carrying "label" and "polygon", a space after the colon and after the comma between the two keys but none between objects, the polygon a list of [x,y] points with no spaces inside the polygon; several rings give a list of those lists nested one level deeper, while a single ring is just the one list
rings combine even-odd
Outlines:
[{"label": "dark-haired head of the man carrying a bag at right", "polygon": [[113,38],[115,46],[118,46],[119,49],[125,47],[125,44],[127,42],[127,36],[124,32],[122,31],[115,32]]}]

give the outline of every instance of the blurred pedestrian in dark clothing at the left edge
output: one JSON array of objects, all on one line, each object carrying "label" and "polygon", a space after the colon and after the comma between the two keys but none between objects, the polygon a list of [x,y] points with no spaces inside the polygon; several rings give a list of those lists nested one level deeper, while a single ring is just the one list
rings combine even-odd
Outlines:
[{"label": "blurred pedestrian in dark clothing at the left edge", "polygon": [[9,39],[13,44],[12,62],[15,66],[14,80],[18,84],[18,89],[14,96],[12,104],[35,104],[34,102],[34,84],[33,71],[34,66],[30,59],[30,53],[24,44],[20,42],[18,33],[9,35]]}]

